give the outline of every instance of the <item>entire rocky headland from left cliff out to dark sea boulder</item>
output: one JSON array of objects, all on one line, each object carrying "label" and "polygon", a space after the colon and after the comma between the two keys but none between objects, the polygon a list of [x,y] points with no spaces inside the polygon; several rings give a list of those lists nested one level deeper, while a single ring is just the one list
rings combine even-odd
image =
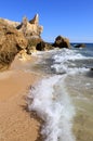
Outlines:
[{"label": "entire rocky headland from left cliff out to dark sea boulder", "polygon": [[0,18],[0,69],[8,68],[17,53],[23,56],[37,50],[70,48],[69,39],[62,36],[57,36],[53,43],[44,41],[42,31],[38,14],[30,21],[24,17],[21,23]]}]

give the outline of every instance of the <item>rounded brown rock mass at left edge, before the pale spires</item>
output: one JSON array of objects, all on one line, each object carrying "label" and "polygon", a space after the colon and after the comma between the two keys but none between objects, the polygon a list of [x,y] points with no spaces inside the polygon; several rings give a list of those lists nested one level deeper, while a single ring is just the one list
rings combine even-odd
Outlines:
[{"label": "rounded brown rock mass at left edge, before the pale spires", "polygon": [[24,35],[6,22],[0,21],[0,69],[9,66],[14,56],[27,47]]}]

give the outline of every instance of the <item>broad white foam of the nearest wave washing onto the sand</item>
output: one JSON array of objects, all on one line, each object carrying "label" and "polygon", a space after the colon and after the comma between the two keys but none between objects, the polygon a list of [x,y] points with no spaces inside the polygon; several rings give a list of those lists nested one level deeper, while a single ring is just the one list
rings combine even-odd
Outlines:
[{"label": "broad white foam of the nearest wave washing onto the sand", "polygon": [[45,121],[41,133],[46,136],[45,141],[75,141],[71,131],[75,108],[66,92],[63,76],[52,76],[42,79],[29,97],[32,103],[30,111],[36,111]]}]

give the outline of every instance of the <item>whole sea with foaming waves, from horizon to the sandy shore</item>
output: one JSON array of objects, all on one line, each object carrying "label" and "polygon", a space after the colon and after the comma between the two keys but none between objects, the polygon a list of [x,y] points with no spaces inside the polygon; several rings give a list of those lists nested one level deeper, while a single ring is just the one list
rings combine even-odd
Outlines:
[{"label": "whole sea with foaming waves, from horizon to the sandy shore", "polygon": [[37,52],[41,80],[28,93],[29,111],[44,121],[44,141],[93,141],[93,43]]}]

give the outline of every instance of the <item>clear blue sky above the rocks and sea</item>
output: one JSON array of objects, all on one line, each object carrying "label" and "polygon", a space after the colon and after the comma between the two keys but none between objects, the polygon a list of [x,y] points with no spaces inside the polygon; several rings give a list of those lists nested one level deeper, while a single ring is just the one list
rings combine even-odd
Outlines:
[{"label": "clear blue sky above the rocks and sea", "polygon": [[41,38],[61,35],[70,42],[93,42],[93,0],[0,0],[0,17],[22,22],[39,14]]}]

